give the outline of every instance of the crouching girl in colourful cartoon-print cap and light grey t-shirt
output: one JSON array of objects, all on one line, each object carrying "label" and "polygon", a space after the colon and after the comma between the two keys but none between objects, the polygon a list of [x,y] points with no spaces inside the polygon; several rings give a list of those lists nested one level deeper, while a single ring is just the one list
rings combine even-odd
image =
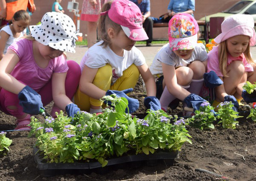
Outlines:
[{"label": "crouching girl in colourful cartoon-print cap and light grey t-shirt", "polygon": [[[196,20],[189,14],[174,15],[169,21],[169,44],[159,50],[150,66],[156,78],[157,98],[164,111],[176,98],[188,102],[189,106],[198,98],[194,109],[199,109],[199,103],[205,101],[198,94],[206,72],[207,52],[202,43],[197,44],[198,31]],[[184,114],[190,116],[192,112]]]}]

